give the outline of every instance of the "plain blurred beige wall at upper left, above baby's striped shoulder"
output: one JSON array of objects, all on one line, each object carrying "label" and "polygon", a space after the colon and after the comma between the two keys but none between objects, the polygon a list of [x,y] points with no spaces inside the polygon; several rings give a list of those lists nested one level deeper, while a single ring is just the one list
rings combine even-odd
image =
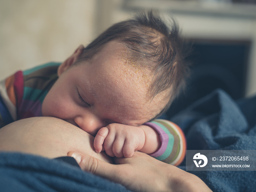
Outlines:
[{"label": "plain blurred beige wall at upper left, above baby's striped shoulder", "polygon": [[95,0],[1,0],[0,79],[63,61],[95,37]]}]

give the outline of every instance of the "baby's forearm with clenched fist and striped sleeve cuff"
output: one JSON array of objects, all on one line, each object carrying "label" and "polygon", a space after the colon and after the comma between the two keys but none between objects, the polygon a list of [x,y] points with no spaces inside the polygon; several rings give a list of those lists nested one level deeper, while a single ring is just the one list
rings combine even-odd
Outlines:
[{"label": "baby's forearm with clenched fist and striped sleeve cuff", "polygon": [[114,157],[132,157],[141,151],[173,165],[185,157],[186,142],[181,129],[167,120],[155,120],[139,127],[110,124],[99,130],[94,140],[96,152],[103,148]]}]

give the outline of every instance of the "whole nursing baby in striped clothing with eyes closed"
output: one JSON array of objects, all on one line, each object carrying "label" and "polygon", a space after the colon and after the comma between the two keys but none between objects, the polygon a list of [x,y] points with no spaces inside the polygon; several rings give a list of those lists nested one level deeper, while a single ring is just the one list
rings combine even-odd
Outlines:
[{"label": "whole nursing baby in striped clothing with eyes closed", "polygon": [[0,83],[0,126],[60,118],[95,137],[111,157],[147,153],[172,165],[185,156],[174,123],[157,119],[178,95],[188,66],[176,24],[153,12],[117,23],[63,63],[18,71]]}]

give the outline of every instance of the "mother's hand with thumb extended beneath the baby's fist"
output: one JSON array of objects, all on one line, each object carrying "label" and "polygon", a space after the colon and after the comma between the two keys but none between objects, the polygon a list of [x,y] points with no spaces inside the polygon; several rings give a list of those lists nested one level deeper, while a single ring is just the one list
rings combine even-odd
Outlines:
[{"label": "mother's hand with thumb extended beneath the baby's fist", "polygon": [[116,158],[118,165],[70,151],[83,170],[121,183],[132,191],[211,192],[197,176],[136,151],[131,158]]}]

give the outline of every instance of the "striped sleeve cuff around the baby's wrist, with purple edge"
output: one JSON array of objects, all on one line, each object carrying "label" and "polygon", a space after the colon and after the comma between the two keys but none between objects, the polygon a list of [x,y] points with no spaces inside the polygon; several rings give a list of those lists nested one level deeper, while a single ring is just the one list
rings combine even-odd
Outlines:
[{"label": "striped sleeve cuff around the baby's wrist, with purple edge", "polygon": [[165,163],[174,166],[180,165],[185,158],[187,148],[181,128],[173,122],[163,119],[156,119],[144,125],[154,128],[159,133],[161,140],[161,147],[150,155]]}]

